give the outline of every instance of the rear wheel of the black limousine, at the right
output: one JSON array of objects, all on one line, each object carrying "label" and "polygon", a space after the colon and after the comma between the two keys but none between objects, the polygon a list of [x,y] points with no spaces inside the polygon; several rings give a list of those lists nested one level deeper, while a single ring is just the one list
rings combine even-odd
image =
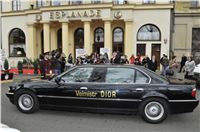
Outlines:
[{"label": "rear wheel of the black limousine, at the right", "polygon": [[148,98],[139,106],[140,116],[148,123],[161,123],[169,114],[168,103],[160,98]]}]

